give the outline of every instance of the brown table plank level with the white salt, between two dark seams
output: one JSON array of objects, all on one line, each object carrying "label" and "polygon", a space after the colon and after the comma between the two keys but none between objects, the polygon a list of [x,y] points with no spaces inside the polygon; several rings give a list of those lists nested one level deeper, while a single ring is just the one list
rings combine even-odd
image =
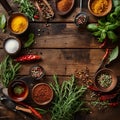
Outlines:
[{"label": "brown table plank level with the white salt, between two dark seams", "polygon": [[[23,43],[30,32],[35,34],[35,44],[31,48],[99,48],[97,38],[86,28],[78,29],[73,23],[31,23],[28,32],[19,37]],[[0,33],[0,48],[3,47],[2,40],[9,36],[9,30],[6,34]]]}]

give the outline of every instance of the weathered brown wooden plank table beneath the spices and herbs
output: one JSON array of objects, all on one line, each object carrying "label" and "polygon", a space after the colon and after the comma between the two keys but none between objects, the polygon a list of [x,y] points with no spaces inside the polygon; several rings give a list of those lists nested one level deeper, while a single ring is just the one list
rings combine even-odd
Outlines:
[{"label": "weathered brown wooden plank table beneath the spices and herbs", "polygon": [[[17,5],[13,0],[8,0],[11,7],[17,11]],[[52,1],[52,0],[51,0]],[[55,8],[54,2],[51,2]],[[55,9],[54,9],[55,11]],[[97,18],[92,16],[87,9],[87,0],[83,1],[83,11],[87,12],[90,22],[96,22]],[[0,5],[0,13],[4,13],[9,17],[4,8]],[[58,75],[59,81],[68,79],[75,70],[82,70],[86,66],[93,76],[96,72],[101,59],[105,53],[105,49],[99,48],[96,38],[86,28],[78,28],[74,24],[74,18],[79,13],[79,0],[75,1],[75,5],[71,13],[67,16],[59,16],[55,12],[55,17],[48,23],[45,21],[30,22],[29,32],[35,34],[35,43],[28,49],[22,49],[21,54],[33,53],[41,55],[42,61],[37,64],[43,66],[46,71],[46,77],[43,82],[51,82],[53,74]],[[5,33],[0,32],[0,61],[6,56],[3,50],[3,40],[10,36],[7,29]],[[22,37],[22,41],[25,38]],[[32,65],[36,63],[24,63],[20,69],[19,75],[28,76]],[[109,68],[115,71],[117,76],[120,75],[119,60],[110,64]],[[30,101],[27,101],[30,104]],[[32,104],[32,106],[36,106]],[[0,104],[1,120],[22,120],[19,115],[6,109]],[[88,115],[77,115],[76,120],[119,120],[120,109],[112,108],[106,112],[94,111]],[[44,120],[49,120],[47,115]]]}]

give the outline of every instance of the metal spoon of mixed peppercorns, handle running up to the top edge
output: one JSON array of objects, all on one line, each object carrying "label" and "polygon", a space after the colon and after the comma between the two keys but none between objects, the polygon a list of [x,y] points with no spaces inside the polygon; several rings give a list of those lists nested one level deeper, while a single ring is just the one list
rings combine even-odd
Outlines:
[{"label": "metal spoon of mixed peppercorns, handle running up to the top edge", "polygon": [[88,21],[88,16],[85,12],[82,12],[82,0],[80,0],[80,13],[78,13],[75,17],[75,24],[78,27],[85,25]]}]

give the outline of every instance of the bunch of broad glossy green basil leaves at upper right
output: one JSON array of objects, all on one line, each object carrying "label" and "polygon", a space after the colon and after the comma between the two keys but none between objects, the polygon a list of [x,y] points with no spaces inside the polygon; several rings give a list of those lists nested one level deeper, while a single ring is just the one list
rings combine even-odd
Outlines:
[{"label": "bunch of broad glossy green basil leaves at upper right", "polygon": [[115,8],[113,8],[111,13],[98,20],[97,26],[96,23],[91,23],[88,24],[87,29],[93,32],[93,35],[98,38],[98,42],[104,42],[105,38],[109,38],[110,41],[116,42],[118,37],[114,30],[119,26],[120,5],[117,5]]}]

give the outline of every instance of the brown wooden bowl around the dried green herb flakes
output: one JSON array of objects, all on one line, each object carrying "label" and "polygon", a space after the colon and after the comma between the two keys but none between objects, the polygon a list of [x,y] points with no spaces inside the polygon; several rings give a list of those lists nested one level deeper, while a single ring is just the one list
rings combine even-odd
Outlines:
[{"label": "brown wooden bowl around the dried green herb flakes", "polygon": [[[108,81],[104,82],[104,86],[107,85],[106,87],[103,87],[103,85],[102,85],[103,83],[101,84],[99,82],[99,80],[100,80],[99,78],[103,74],[111,76],[111,80],[110,80],[111,82],[109,82],[109,83],[108,83]],[[111,69],[103,68],[96,73],[95,78],[94,78],[94,83],[95,83],[96,88],[98,88],[99,91],[110,92],[117,85],[117,77]]]}]

